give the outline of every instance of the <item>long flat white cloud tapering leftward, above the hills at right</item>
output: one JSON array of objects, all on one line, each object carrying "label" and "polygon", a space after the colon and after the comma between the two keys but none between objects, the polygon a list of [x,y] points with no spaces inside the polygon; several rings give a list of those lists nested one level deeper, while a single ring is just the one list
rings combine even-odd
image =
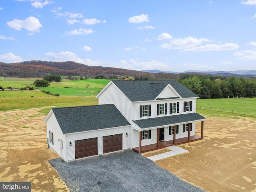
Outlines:
[{"label": "long flat white cloud tapering leftward, above the hills at right", "polygon": [[184,51],[227,51],[239,48],[237,44],[225,43],[222,45],[218,44],[206,44],[198,47],[186,48]]}]

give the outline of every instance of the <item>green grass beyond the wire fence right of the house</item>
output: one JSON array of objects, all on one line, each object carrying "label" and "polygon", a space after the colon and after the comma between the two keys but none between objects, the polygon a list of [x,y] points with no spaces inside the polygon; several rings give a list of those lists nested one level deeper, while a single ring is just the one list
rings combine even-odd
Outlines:
[{"label": "green grass beyond the wire fence right of the house", "polygon": [[198,99],[196,100],[197,111],[211,110],[219,111],[228,114],[246,114],[249,116],[256,116],[255,105],[256,98],[236,98],[236,99]]}]

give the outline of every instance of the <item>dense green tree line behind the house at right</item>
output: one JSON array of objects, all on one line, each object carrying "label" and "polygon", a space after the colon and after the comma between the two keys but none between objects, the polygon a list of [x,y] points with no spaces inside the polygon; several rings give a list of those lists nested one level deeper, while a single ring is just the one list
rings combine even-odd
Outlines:
[{"label": "dense green tree line behind the house at right", "polygon": [[203,99],[256,97],[254,78],[182,74],[178,82]]}]

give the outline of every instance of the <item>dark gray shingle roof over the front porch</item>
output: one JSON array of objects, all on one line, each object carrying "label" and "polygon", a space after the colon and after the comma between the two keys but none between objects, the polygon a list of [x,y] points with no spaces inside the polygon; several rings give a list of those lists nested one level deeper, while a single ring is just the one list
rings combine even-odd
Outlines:
[{"label": "dark gray shingle roof over the front porch", "polygon": [[179,124],[183,122],[191,122],[197,120],[206,120],[203,116],[198,113],[188,113],[181,115],[163,116],[149,119],[136,120],[136,123],[140,128],[150,128],[158,126],[166,126],[170,124]]}]

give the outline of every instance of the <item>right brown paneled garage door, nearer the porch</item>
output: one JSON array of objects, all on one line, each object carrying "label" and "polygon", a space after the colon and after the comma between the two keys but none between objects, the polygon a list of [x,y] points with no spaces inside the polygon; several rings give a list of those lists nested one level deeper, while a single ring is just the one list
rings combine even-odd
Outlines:
[{"label": "right brown paneled garage door, nearer the porch", "polygon": [[103,153],[109,153],[123,149],[122,134],[103,137]]}]

